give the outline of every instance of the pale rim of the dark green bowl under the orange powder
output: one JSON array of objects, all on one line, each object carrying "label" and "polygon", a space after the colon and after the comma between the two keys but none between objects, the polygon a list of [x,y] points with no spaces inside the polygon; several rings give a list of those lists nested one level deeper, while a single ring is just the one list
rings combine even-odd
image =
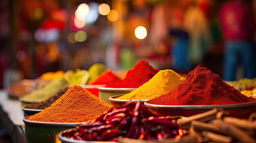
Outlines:
[{"label": "pale rim of the dark green bowl under the orange powder", "polygon": [[[31,115],[33,116],[33,115]],[[29,125],[38,125],[38,126],[47,126],[47,127],[75,127],[79,124],[84,124],[86,122],[80,122],[80,123],[53,123],[53,122],[38,122],[38,121],[29,121],[27,118],[30,116],[26,116],[22,119],[22,121]]]}]

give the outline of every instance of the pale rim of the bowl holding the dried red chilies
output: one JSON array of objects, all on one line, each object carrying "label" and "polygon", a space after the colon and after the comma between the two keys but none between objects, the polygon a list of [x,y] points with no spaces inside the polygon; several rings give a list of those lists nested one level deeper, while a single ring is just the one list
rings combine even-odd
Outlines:
[{"label": "pale rim of the bowl holding the dried red chilies", "polygon": [[[72,130],[72,129],[68,129],[68,130]],[[119,142],[113,142],[113,141],[80,141],[80,140],[75,140],[75,139],[69,139],[67,137],[62,136],[62,133],[64,131],[60,132],[58,135],[58,138],[63,143],[119,143]]]}]

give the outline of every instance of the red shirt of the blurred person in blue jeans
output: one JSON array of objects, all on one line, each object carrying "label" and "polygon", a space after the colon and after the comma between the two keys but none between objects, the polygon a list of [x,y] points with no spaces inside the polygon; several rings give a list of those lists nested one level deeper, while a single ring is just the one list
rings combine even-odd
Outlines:
[{"label": "red shirt of the blurred person in blue jeans", "polygon": [[230,1],[220,10],[220,20],[225,39],[249,40],[254,33],[251,7],[244,2]]}]

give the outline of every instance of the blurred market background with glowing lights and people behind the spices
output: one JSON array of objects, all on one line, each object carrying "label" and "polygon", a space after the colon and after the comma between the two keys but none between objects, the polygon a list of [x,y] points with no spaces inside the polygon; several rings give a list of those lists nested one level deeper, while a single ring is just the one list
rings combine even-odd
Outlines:
[{"label": "blurred market background with glowing lights and people behind the spices", "polygon": [[1,0],[0,88],[94,63],[127,70],[140,59],[253,78],[255,27],[256,0]]}]

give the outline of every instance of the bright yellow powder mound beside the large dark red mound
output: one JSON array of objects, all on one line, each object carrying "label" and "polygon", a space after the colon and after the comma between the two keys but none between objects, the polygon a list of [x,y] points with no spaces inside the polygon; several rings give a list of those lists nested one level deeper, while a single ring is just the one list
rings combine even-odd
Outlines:
[{"label": "bright yellow powder mound beside the large dark red mound", "polygon": [[118,97],[122,100],[143,100],[153,99],[165,93],[170,92],[177,85],[181,84],[184,78],[175,73],[173,70],[160,70],[148,82],[133,90],[132,92]]}]

